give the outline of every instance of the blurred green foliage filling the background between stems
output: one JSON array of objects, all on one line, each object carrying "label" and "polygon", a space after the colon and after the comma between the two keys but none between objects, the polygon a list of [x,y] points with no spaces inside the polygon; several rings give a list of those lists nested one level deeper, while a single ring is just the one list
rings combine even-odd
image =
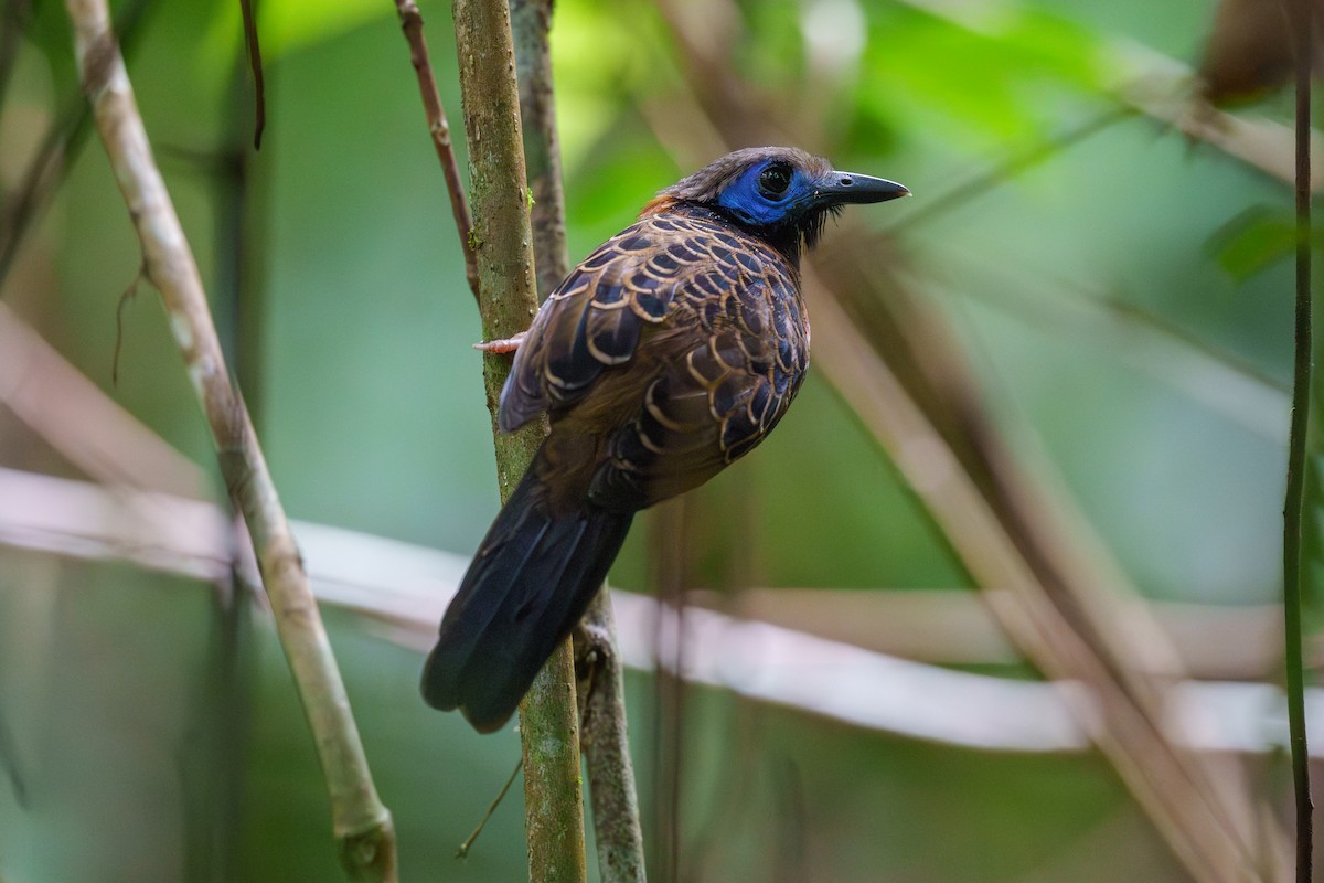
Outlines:
[{"label": "blurred green foliage filling the background between stems", "polygon": [[[972,29],[902,4],[835,3],[865,25],[858,57],[838,60],[846,66],[814,68],[810,0],[741,4],[737,62],[789,106],[829,103],[841,167],[915,192],[862,220],[896,230],[899,259],[968,344],[1014,443],[1047,454],[1147,594],[1276,598],[1290,191],[1139,115],[1054,148],[1113,113],[1103,94],[1110,40],[1189,60],[1210,5],[1041,0],[1004,4],[1005,16]],[[458,132],[449,9],[422,7]],[[470,348],[479,328],[393,7],[263,0],[267,131],[245,160],[244,203],[218,171],[252,134],[237,4],[155,3],[142,26],[130,73],[230,349],[257,365],[245,396],[290,514],[470,553],[496,510]],[[7,189],[71,97],[69,44],[60,5],[36,3],[0,116]],[[641,0],[559,0],[553,50],[580,257],[688,171],[653,128],[677,106],[681,78],[665,24]],[[1041,148],[1046,159],[1030,169],[907,226],[927,201]],[[253,277],[238,324],[237,221],[250,230],[242,259]],[[107,163],[89,142],[0,293],[109,396],[212,470],[148,286],[126,310],[111,384],[117,302],[138,265]],[[1092,308],[1086,319],[1063,318],[1080,304]],[[1282,420],[1238,418],[1217,389],[1193,395],[1215,372],[1193,377],[1132,347],[1127,323],[1177,328],[1173,352],[1194,340],[1213,363],[1268,377],[1253,410],[1279,408]],[[4,429],[0,442],[0,465],[77,474],[21,430]],[[722,556],[749,560],[731,543],[751,543],[772,586],[965,586],[911,491],[817,376],[768,443],[700,494],[724,537],[696,563],[700,576],[726,572]],[[755,527],[735,530],[726,514],[748,511],[751,494]],[[645,545],[637,530],[614,581],[646,586]],[[312,748],[261,612],[238,643],[252,666],[241,714],[216,718],[209,671],[225,642],[212,592],[0,549],[0,723],[26,785],[23,805],[0,786],[0,878],[336,879]],[[451,858],[504,781],[516,737],[482,739],[425,710],[417,654],[348,616],[330,621],[400,830],[404,879],[522,879],[518,790],[473,855]],[[632,675],[630,704],[650,806],[659,723],[643,675]],[[1092,755],[916,744],[707,690],[687,704],[685,733],[687,879],[1180,875]],[[208,819],[228,839],[195,830]],[[661,822],[654,813],[645,823]]]}]

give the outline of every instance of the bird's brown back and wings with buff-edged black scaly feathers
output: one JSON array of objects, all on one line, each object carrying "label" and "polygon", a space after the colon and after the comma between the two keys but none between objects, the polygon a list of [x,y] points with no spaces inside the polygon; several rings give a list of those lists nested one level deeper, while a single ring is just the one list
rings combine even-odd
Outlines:
[{"label": "bird's brown back and wings with buff-edged black scaly feathers", "polygon": [[547,408],[573,434],[605,436],[588,490],[605,508],[696,487],[753,449],[800,387],[809,342],[796,286],[785,259],[748,236],[646,217],[539,311],[502,393],[502,426]]}]

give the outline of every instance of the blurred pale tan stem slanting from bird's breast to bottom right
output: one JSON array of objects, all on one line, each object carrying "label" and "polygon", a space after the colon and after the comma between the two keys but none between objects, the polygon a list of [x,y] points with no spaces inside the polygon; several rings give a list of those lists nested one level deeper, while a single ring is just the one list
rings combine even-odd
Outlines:
[{"label": "blurred pale tan stem slanting from bird's breast to bottom right", "polygon": [[[841,307],[814,298],[817,364],[891,454],[955,547],[1002,627],[1050,678],[1078,679],[1091,690],[1075,711],[1094,720],[1092,736],[1137,801],[1198,880],[1258,879],[1223,801],[1206,774],[1177,752],[1108,670],[1091,642],[1053,602],[997,514],[932,424],[854,330]],[[1133,618],[1128,620],[1133,622]]]}]

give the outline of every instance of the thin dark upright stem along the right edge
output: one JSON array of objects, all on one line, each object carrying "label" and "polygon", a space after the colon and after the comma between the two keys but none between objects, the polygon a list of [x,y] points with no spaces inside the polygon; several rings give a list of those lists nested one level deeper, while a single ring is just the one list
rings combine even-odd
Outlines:
[{"label": "thin dark upright stem along the right edge", "polygon": [[1301,654],[1301,518],[1305,500],[1305,437],[1311,408],[1311,57],[1313,1],[1286,3],[1295,26],[1296,62],[1296,328],[1292,359],[1292,420],[1287,440],[1287,494],[1283,503],[1283,645],[1287,667],[1287,723],[1292,744],[1296,804],[1296,879],[1311,883],[1313,804],[1305,743],[1305,673]]}]

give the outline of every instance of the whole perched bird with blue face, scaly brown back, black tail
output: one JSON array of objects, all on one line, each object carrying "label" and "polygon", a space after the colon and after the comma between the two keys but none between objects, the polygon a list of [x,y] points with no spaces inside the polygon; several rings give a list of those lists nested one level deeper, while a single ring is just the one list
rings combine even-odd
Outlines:
[{"label": "whole perched bird with blue face, scaly brown back, black tail", "polygon": [[798,148],[737,150],[659,191],[547,297],[498,425],[547,412],[551,432],[446,609],[428,704],[479,732],[506,724],[634,514],[704,483],[786,413],[809,367],[801,250],[846,204],[907,195]]}]

